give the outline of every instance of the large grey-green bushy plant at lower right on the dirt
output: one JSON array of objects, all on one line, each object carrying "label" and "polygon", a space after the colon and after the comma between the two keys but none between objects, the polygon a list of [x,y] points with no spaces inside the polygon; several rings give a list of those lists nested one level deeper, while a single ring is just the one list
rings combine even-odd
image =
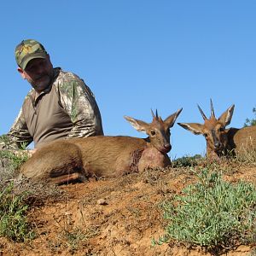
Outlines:
[{"label": "large grey-green bushy plant at lower right on the dirt", "polygon": [[[225,182],[218,172],[202,170],[173,201],[162,204],[170,240],[214,249],[250,243],[256,232],[256,189],[250,183]],[[255,239],[255,237],[254,237]]]}]

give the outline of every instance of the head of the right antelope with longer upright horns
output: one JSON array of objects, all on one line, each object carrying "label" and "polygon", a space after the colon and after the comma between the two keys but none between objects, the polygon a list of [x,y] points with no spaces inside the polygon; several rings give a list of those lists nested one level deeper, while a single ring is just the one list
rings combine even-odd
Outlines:
[{"label": "head of the right antelope with longer upright horns", "polygon": [[203,125],[197,123],[178,123],[178,125],[193,132],[195,135],[202,134],[206,138],[208,157],[214,156],[214,154],[220,156],[224,153],[224,149],[228,148],[228,137],[225,127],[230,125],[235,105],[228,108],[218,119],[215,117],[212,100],[210,119],[207,119],[207,116],[199,106],[198,108],[205,121]]}]

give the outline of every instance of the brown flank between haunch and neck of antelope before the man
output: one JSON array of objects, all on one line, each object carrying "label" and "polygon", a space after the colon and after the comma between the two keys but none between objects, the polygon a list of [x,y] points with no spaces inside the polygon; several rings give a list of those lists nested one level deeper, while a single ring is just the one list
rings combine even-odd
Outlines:
[{"label": "brown flank between haunch and neck of antelope before the man", "polygon": [[137,171],[148,143],[143,138],[97,136],[72,139],[81,150],[84,169],[97,177],[116,177]]}]

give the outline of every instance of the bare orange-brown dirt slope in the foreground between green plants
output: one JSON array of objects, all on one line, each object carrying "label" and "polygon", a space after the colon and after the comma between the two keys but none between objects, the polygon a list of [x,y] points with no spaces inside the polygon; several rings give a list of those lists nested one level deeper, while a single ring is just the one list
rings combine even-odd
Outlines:
[{"label": "bare orange-brown dirt slope in the foreground between green plants", "polygon": [[[256,184],[256,167],[230,168],[225,179]],[[60,201],[34,207],[29,219],[38,233],[30,242],[0,239],[0,255],[212,255],[201,247],[171,242],[152,246],[165,233],[160,203],[180,193],[196,177],[189,168],[158,169],[116,179],[62,185]],[[239,245],[216,255],[255,255]]]}]

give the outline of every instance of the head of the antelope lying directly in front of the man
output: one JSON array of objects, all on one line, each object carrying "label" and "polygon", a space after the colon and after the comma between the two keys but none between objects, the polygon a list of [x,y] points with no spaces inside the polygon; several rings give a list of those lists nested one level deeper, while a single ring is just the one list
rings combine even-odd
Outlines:
[{"label": "head of the antelope lying directly in front of the man", "polygon": [[174,125],[177,116],[182,110],[182,108],[177,110],[176,113],[172,113],[172,115],[168,116],[165,120],[161,119],[157,111],[154,115],[151,110],[153,121],[150,124],[128,116],[125,116],[125,119],[130,122],[137,131],[146,132],[151,145],[154,146],[154,148],[157,148],[161,153],[165,154],[172,149],[170,143],[170,128]]}]

